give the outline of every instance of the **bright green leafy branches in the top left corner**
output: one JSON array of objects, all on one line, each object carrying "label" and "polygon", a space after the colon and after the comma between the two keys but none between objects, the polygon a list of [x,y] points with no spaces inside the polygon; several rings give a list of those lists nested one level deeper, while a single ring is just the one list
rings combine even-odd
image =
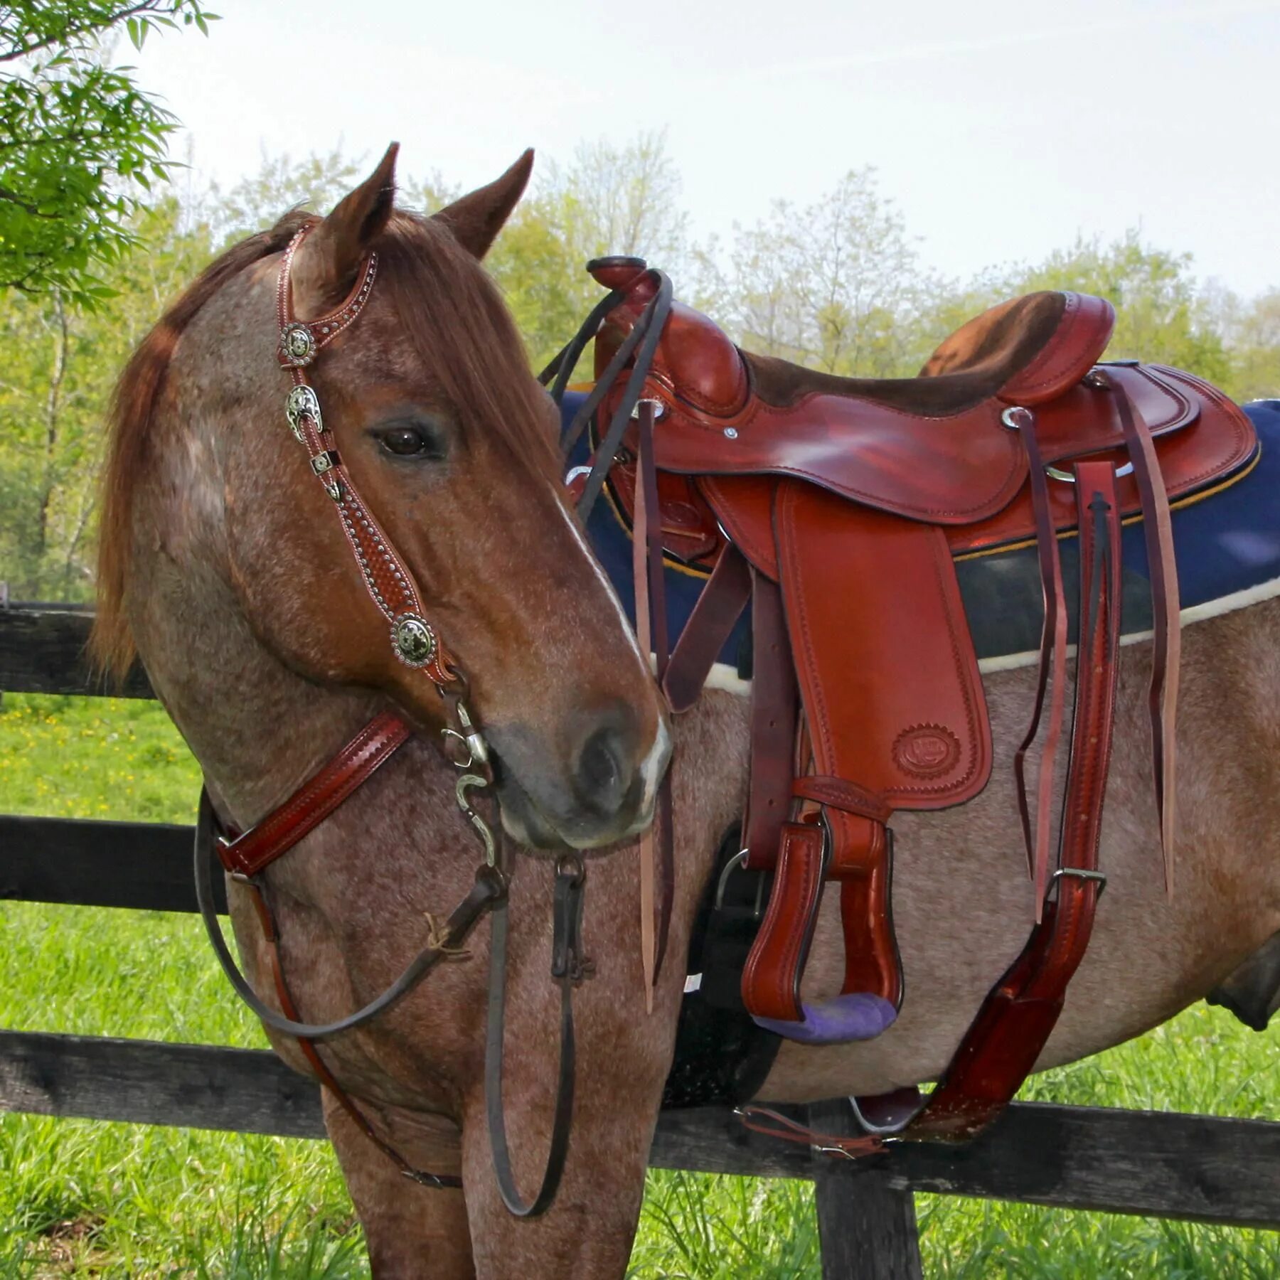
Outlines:
[{"label": "bright green leafy branches in the top left corner", "polygon": [[0,289],[59,291],[64,305],[109,296],[99,271],[137,242],[133,215],[168,178],[174,116],[104,64],[125,31],[214,14],[202,0],[24,0],[0,5]]}]

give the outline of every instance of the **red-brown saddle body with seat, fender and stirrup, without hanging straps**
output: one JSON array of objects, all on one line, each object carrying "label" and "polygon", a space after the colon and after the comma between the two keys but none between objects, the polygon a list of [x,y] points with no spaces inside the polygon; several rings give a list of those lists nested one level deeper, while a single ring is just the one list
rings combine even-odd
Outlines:
[{"label": "red-brown saddle body with seat, fender and stirrup, without hanging straps", "polygon": [[[596,333],[600,376],[655,278],[635,260],[605,260],[593,274],[623,291]],[[718,652],[749,602],[744,865],[772,872],[773,888],[742,995],[781,1034],[867,1038],[901,1005],[888,823],[896,810],[963,804],[991,777],[954,557],[1036,539],[1034,454],[1020,431],[1034,430],[1052,477],[1041,509],[1059,536],[1080,520],[1071,481],[1082,460],[1114,460],[1121,516],[1144,509],[1121,397],[1152,438],[1170,499],[1242,474],[1256,452],[1248,417],[1201,379],[1100,364],[1114,320],[1101,298],[1029,294],[961,326],[918,378],[876,380],[748,355],[708,317],[672,305],[641,392],[657,415],[660,536],[672,558],[709,575],[700,605],[716,603],[690,617],[667,694],[677,713],[696,700],[704,671],[694,663],[690,678],[681,649]],[[602,421],[621,399],[614,387]],[[608,485],[631,520],[636,424],[622,442]],[[817,1004],[801,998],[800,979],[831,882],[846,969],[840,995]]]}]

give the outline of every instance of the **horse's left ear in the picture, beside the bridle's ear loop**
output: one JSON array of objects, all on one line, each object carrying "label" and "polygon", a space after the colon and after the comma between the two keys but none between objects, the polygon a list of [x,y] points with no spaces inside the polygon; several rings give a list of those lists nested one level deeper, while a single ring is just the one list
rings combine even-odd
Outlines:
[{"label": "horse's left ear in the picture, beside the bridle's ear loop", "polygon": [[316,319],[340,306],[356,283],[356,273],[370,246],[387,227],[396,204],[393,142],[378,168],[337,204],[298,247],[293,262],[293,310],[300,319]]}]

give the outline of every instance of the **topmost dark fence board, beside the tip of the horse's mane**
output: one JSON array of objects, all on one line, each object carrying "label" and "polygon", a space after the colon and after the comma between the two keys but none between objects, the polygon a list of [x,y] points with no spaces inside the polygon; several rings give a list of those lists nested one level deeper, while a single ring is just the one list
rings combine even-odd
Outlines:
[{"label": "topmost dark fence board, beside the tip of the horse's mane", "polygon": [[92,626],[87,611],[0,609],[0,691],[155,698],[136,663],[119,687],[90,672],[84,649]]}]

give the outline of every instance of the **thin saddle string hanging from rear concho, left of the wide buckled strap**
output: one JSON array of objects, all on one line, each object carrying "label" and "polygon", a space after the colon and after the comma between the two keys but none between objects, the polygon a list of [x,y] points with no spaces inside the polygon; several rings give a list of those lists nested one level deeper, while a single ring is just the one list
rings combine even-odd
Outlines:
[{"label": "thin saddle string hanging from rear concho, left of the wide buckled strap", "polygon": [[[1014,778],[1018,785],[1018,814],[1023,823],[1023,841],[1027,846],[1027,870],[1034,886],[1037,923],[1044,904],[1048,883],[1050,824],[1053,812],[1053,767],[1062,735],[1062,714],[1066,694],[1066,600],[1062,594],[1062,561],[1053,527],[1050,506],[1048,479],[1036,435],[1036,416],[1023,407],[1006,408],[1002,421],[1016,430],[1027,451],[1030,477],[1032,509],[1036,516],[1036,552],[1039,558],[1041,590],[1044,621],[1041,627],[1039,669],[1036,678],[1036,703],[1032,708],[1027,736],[1014,754]],[[1044,698],[1050,694],[1048,728],[1039,754],[1036,788],[1036,817],[1032,820],[1027,787],[1027,755],[1039,736],[1044,713]]]}]

